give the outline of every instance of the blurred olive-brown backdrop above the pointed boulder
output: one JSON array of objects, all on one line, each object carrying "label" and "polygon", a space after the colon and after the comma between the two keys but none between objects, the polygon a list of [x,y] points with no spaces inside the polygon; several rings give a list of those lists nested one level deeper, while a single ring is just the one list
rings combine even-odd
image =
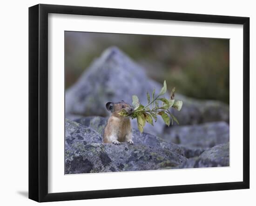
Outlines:
[{"label": "blurred olive-brown backdrop above the pointed boulder", "polygon": [[168,89],[229,104],[229,40],[139,34],[65,32],[65,86],[74,84],[108,47],[119,47]]}]

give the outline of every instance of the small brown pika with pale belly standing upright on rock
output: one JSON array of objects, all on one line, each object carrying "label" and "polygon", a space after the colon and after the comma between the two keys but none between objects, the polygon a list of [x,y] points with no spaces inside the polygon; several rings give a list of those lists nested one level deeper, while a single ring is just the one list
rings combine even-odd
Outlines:
[{"label": "small brown pika with pale belly standing upright on rock", "polygon": [[129,115],[124,117],[119,114],[123,109],[131,114],[134,110],[133,107],[121,101],[117,103],[108,102],[106,108],[111,112],[111,116],[108,118],[107,126],[104,129],[103,142],[119,145],[120,142],[126,141],[133,145],[130,117]]}]

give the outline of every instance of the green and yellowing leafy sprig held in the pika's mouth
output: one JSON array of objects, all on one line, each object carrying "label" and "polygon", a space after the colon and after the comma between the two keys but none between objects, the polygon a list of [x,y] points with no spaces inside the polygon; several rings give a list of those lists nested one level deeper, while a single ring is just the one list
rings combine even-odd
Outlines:
[{"label": "green and yellowing leafy sprig held in the pika's mouth", "polygon": [[[131,119],[137,118],[138,129],[140,130],[141,133],[143,132],[143,128],[146,122],[154,126],[153,119],[156,122],[157,115],[162,117],[162,120],[165,122],[167,126],[170,126],[170,124],[173,125],[173,121],[179,124],[175,116],[169,111],[169,108],[173,107],[176,110],[180,111],[182,108],[182,101],[174,100],[175,87],[172,89],[169,99],[161,97],[166,93],[166,91],[167,91],[167,86],[166,86],[166,81],[164,80],[163,87],[160,93],[156,95],[156,97],[155,97],[155,89],[153,90],[151,97],[150,97],[150,94],[147,92],[147,100],[148,100],[147,106],[141,105],[139,98],[136,95],[132,96],[132,100],[133,100],[132,105],[134,107],[134,112],[130,114],[130,116],[131,116]],[[161,103],[162,105],[159,106],[159,104]],[[151,108],[149,108],[150,105],[151,105]],[[129,115],[125,110],[122,110],[119,114],[122,116]]]}]

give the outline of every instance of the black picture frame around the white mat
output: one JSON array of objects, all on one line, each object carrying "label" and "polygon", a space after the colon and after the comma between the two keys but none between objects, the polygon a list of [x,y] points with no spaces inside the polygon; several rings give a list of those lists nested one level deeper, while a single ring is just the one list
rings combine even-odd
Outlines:
[{"label": "black picture frame around the white mat", "polygon": [[[243,181],[48,193],[48,13],[243,25]],[[248,17],[45,4],[29,7],[29,199],[48,202],[246,188],[249,188]]]}]

